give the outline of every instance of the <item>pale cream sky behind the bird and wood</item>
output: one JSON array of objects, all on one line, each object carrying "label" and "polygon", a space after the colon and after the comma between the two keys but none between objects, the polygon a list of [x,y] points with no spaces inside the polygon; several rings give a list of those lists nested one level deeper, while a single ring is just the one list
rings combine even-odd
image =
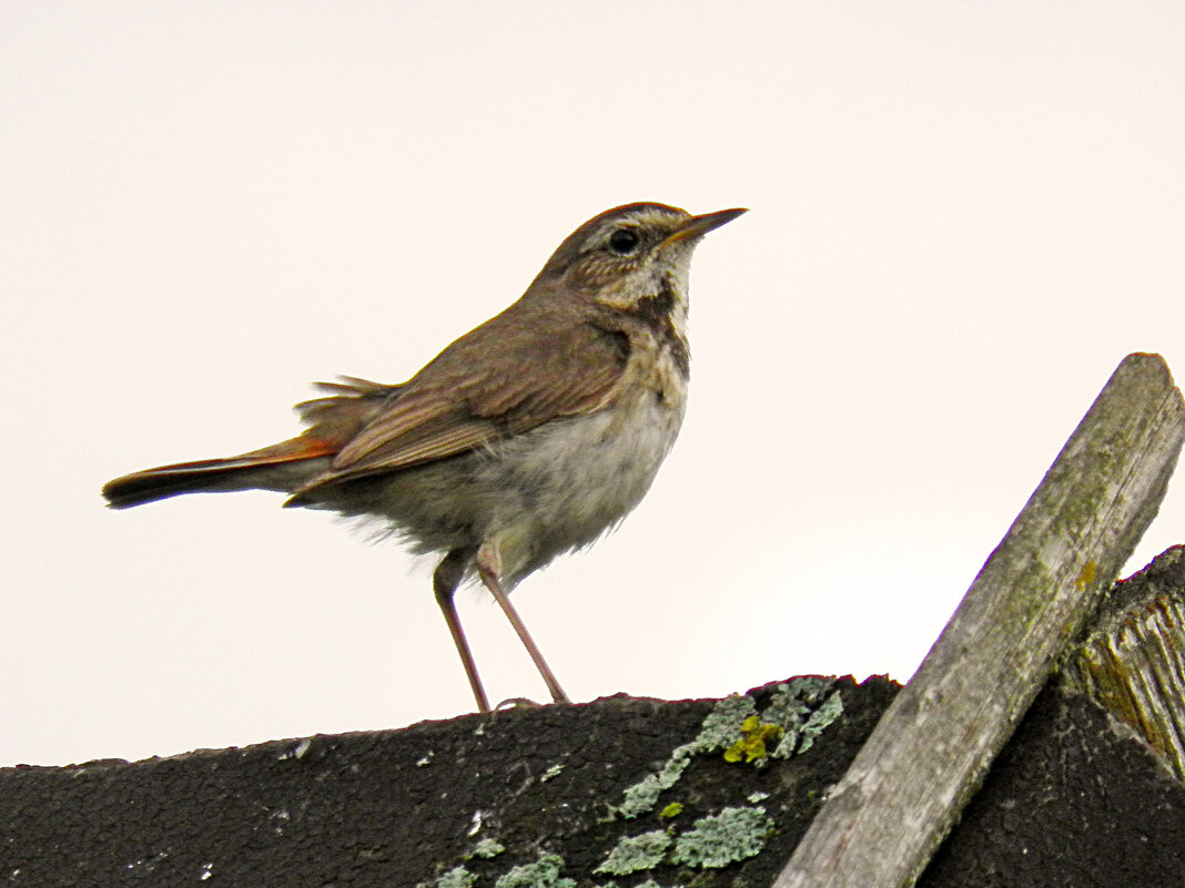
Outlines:
[{"label": "pale cream sky behind the bird and wood", "polygon": [[[2,765],[469,712],[430,564],[98,489],[402,381],[617,204],[752,212],[648,498],[515,592],[581,701],[907,680],[1123,355],[1185,374],[1179,2],[7,0],[0,78]],[[1176,542],[1180,478],[1129,572]]]}]

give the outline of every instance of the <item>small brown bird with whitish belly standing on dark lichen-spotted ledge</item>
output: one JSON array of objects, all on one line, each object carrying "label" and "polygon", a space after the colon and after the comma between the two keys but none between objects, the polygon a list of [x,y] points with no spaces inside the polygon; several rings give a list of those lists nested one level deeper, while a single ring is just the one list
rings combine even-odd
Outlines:
[{"label": "small brown bird with whitish belly standing on dark lichen-spotted ledge", "polygon": [[115,509],[180,494],[262,489],[286,507],[378,522],[440,556],[433,590],[480,712],[489,700],[454,603],[480,580],[551,697],[570,702],[510,601],[520,580],[615,528],[642,500],[687,403],[696,245],[744,208],[656,202],[572,232],[526,291],[406,382],[318,382],[302,433],[220,459],[108,482]]}]

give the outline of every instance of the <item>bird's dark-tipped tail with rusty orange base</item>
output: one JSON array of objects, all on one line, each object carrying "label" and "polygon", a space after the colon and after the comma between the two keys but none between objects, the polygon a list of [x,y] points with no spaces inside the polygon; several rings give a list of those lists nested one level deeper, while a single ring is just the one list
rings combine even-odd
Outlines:
[{"label": "bird's dark-tipped tail with rusty orange base", "polygon": [[103,485],[113,509],[129,509],[171,496],[228,490],[292,490],[315,475],[335,451],[331,443],[302,435],[229,459],[160,465]]}]

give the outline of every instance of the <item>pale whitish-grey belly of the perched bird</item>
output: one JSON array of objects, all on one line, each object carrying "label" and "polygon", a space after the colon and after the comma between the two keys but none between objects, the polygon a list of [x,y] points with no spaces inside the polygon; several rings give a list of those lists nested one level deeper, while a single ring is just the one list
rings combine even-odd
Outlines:
[{"label": "pale whitish-grey belly of the perched bird", "polygon": [[[652,391],[424,466],[371,476],[314,508],[377,519],[422,554],[497,542],[507,587],[588,546],[638,506],[683,424],[683,399]],[[342,493],[347,493],[342,490]]]}]

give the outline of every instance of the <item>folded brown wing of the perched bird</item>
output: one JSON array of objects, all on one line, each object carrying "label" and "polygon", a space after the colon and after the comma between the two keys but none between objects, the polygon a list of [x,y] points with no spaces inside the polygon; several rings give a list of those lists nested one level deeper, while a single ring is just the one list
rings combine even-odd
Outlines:
[{"label": "folded brown wing of the perched bird", "polygon": [[587,323],[557,327],[514,328],[499,337],[495,354],[479,353],[473,334],[457,340],[401,386],[344,443],[332,469],[297,494],[443,459],[600,408],[624,369],[628,340]]}]

